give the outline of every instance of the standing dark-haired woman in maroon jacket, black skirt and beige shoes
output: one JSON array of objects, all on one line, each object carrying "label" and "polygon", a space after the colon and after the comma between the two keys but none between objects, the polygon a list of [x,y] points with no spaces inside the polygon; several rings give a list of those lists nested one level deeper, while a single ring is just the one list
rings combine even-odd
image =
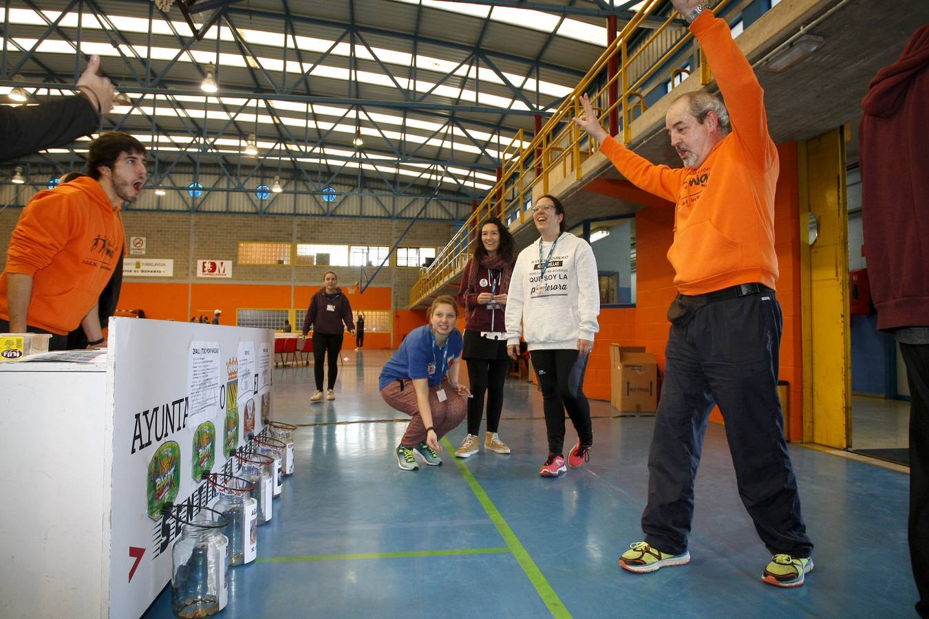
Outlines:
[{"label": "standing dark-haired woman in maroon jacket, black skirt and beige shoes", "polygon": [[464,266],[458,303],[464,307],[464,353],[468,382],[474,397],[467,403],[467,434],[455,450],[458,458],[478,453],[480,418],[487,393],[487,434],[484,450],[508,454],[497,430],[504,408],[504,381],[510,367],[506,354],[506,291],[513,276],[513,235],[491,217],[480,226],[474,255]]}]

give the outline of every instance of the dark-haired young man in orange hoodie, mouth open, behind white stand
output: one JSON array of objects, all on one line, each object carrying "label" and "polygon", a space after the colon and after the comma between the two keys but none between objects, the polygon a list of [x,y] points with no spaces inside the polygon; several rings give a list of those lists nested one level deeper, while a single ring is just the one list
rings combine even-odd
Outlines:
[{"label": "dark-haired young man in orange hoodie, mouth open, behind white stand", "polygon": [[83,327],[89,347],[106,343],[98,298],[124,252],[123,202],[135,202],[147,172],[145,147],[111,131],[89,146],[87,176],[35,194],[20,215],[0,275],[0,331],[51,333],[49,349]]}]

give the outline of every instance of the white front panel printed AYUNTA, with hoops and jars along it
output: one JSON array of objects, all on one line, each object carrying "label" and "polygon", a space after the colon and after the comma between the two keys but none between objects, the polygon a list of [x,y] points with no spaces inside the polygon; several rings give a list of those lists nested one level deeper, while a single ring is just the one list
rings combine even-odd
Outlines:
[{"label": "white front panel printed AYUNTA, with hoops and jars along it", "polygon": [[111,617],[141,615],[171,579],[181,525],[164,504],[212,504],[203,473],[231,471],[230,451],[262,431],[256,408],[271,398],[259,368],[273,338],[270,329],[111,319]]}]

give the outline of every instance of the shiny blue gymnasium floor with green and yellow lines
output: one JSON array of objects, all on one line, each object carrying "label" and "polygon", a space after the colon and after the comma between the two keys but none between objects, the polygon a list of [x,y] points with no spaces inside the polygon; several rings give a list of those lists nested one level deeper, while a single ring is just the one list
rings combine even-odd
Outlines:
[{"label": "shiny blue gymnasium floor with green and yellow lines", "polygon": [[[377,392],[387,354],[344,355],[334,402],[309,404],[312,368],[275,369],[275,417],[302,426],[296,472],[258,529],[258,560],[230,570],[218,616],[916,616],[904,473],[791,446],[816,568],[803,587],[771,587],[724,430],[711,424],[690,564],[630,574],[617,561],[642,537],[652,418],[614,418],[593,401],[591,461],[543,479],[541,393],[509,379],[500,434],[511,455],[481,446],[454,458],[463,423],[443,466],[400,471],[392,450],[409,418]],[[569,429],[566,449],[575,438]],[[171,616],[170,587],[143,616]]]}]

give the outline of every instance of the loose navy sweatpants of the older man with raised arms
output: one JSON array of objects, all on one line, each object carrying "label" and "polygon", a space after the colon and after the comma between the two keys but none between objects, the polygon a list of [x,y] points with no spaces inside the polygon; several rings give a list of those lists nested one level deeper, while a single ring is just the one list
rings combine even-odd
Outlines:
[{"label": "loose navy sweatpants of the older man with raised arms", "polygon": [[694,478],[719,404],[739,496],[758,535],[771,554],[810,555],[778,399],[782,324],[774,292],[762,291],[707,303],[686,325],[672,325],[648,453],[642,530],[649,545],[687,551]]}]

